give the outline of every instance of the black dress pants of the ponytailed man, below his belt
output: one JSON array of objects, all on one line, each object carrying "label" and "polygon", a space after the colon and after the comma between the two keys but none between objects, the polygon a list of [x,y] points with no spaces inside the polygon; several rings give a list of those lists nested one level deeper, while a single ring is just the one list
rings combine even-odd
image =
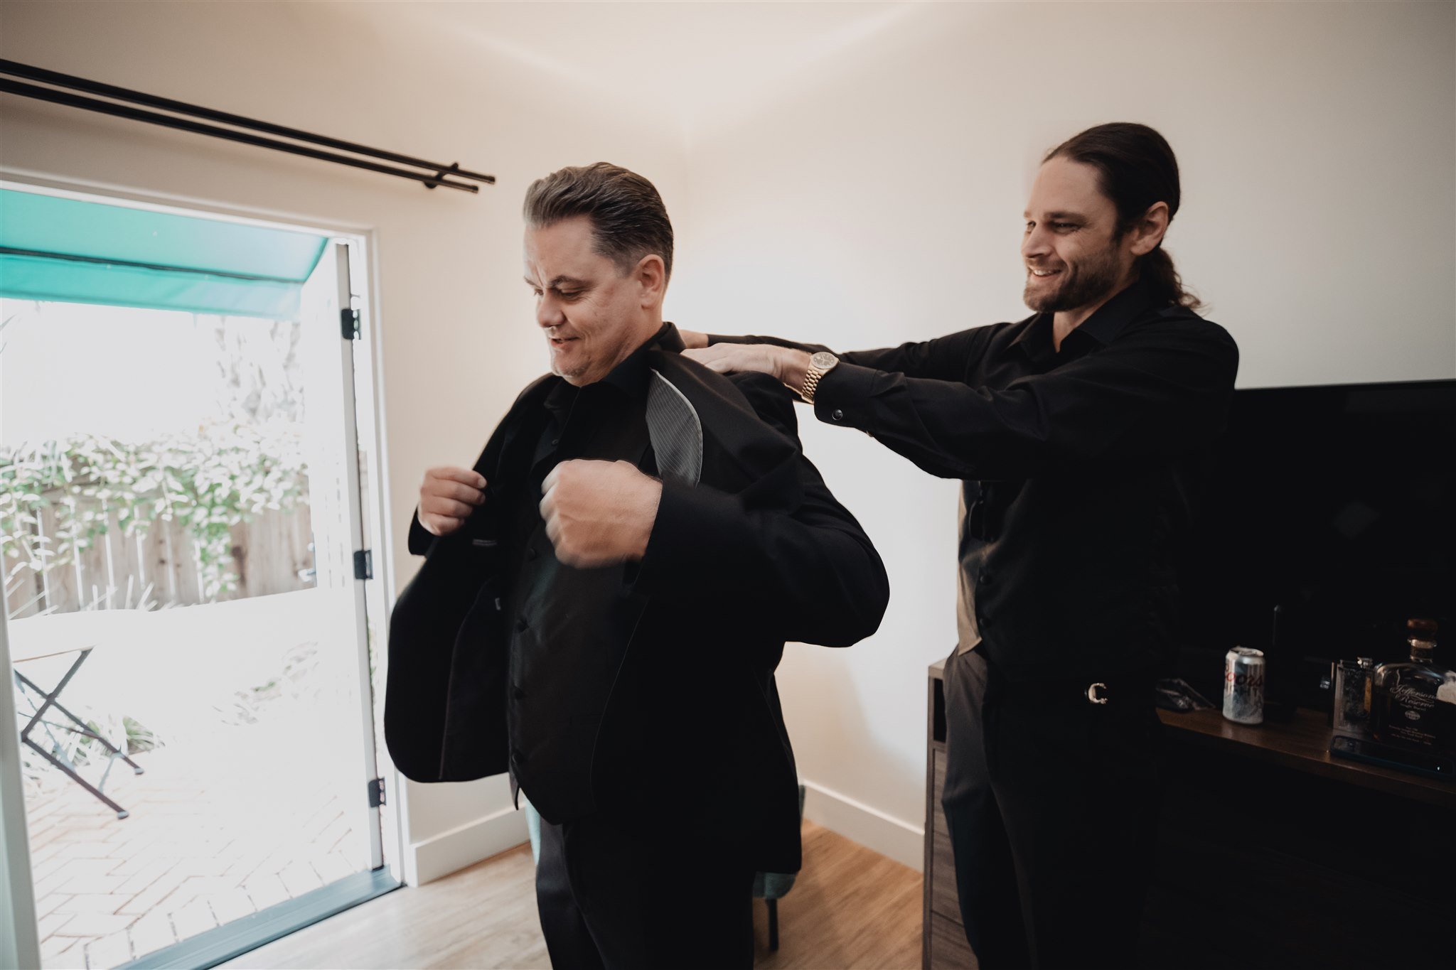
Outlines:
[{"label": "black dress pants of the ponytailed man, below his belt", "polygon": [[1073,684],[1012,684],[970,650],[945,665],[945,714],[941,801],[981,970],[1136,966],[1159,798],[1152,684],[1092,704]]}]

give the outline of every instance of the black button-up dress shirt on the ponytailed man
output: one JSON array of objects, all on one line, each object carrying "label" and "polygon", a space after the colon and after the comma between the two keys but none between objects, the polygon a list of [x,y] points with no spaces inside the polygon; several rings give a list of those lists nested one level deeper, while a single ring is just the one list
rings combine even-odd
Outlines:
[{"label": "black button-up dress shirt on the ponytailed man", "polygon": [[1051,324],[1041,313],[843,353],[814,412],[962,480],[958,650],[1021,681],[1143,678],[1172,646],[1175,544],[1238,346],[1140,284],[1060,350]]}]

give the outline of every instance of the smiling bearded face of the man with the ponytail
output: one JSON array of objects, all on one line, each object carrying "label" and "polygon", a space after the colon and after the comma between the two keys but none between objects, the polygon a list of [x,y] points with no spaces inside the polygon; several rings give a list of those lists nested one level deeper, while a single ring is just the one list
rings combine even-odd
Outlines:
[{"label": "smiling bearded face of the man with the ponytail", "polygon": [[[1047,160],[1031,186],[1021,256],[1026,305],[1076,313],[1099,305],[1133,281],[1139,233],[1117,233],[1117,207],[1092,166]],[[1160,233],[1159,233],[1160,236]]]}]

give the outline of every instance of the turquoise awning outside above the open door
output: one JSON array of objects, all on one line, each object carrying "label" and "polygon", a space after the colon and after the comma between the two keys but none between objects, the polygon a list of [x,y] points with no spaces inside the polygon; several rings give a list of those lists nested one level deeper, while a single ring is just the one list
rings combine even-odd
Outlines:
[{"label": "turquoise awning outside above the open door", "polygon": [[0,189],[0,297],[293,320],[312,233]]}]

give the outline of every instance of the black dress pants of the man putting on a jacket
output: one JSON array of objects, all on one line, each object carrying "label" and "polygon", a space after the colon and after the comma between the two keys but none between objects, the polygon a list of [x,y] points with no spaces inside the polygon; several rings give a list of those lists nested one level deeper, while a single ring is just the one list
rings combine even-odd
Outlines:
[{"label": "black dress pants of the man putting on a jacket", "polygon": [[705,822],[542,819],[536,905],[552,967],[753,967],[754,871]]}]

